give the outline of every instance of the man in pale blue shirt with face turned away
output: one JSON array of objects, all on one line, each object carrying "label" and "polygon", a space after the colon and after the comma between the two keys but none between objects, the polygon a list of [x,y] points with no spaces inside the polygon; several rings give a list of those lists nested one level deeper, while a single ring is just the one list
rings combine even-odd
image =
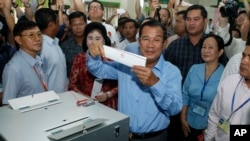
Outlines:
[{"label": "man in pale blue shirt with face turned away", "polygon": [[42,8],[36,12],[35,19],[43,33],[41,57],[48,63],[48,89],[56,93],[65,92],[67,90],[66,60],[58,44],[59,39],[56,38],[60,27],[58,16],[52,9]]}]

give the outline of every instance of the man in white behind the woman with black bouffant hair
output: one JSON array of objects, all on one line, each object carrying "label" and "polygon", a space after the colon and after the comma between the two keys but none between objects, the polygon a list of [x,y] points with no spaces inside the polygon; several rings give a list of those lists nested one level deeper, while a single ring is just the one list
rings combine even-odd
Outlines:
[{"label": "man in white behind the woman with black bouffant hair", "polygon": [[99,22],[102,23],[106,30],[108,37],[111,40],[112,46],[115,46],[119,43],[118,36],[116,34],[115,28],[109,24],[106,24],[102,17],[104,15],[104,7],[103,4],[100,1],[93,0],[88,5],[88,23],[89,22]]}]

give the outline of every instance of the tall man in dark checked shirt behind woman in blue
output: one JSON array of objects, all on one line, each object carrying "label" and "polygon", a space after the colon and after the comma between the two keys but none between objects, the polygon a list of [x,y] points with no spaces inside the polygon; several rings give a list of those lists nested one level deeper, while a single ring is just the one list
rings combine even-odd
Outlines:
[{"label": "tall man in dark checked shirt behind woman in blue", "polygon": [[182,73],[183,81],[193,64],[201,63],[201,42],[205,35],[207,11],[201,5],[192,5],[184,16],[187,35],[173,41],[164,53],[164,58],[176,65]]}]

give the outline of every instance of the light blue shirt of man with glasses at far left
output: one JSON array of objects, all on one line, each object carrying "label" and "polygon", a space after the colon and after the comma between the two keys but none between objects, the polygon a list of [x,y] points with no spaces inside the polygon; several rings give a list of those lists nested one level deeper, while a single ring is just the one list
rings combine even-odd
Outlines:
[{"label": "light blue shirt of man with glasses at far left", "polygon": [[43,70],[43,80],[47,83],[48,78],[43,65],[43,61],[38,55],[35,59],[19,49],[4,68],[3,104],[8,104],[10,99],[44,92],[45,89],[33,68]]}]

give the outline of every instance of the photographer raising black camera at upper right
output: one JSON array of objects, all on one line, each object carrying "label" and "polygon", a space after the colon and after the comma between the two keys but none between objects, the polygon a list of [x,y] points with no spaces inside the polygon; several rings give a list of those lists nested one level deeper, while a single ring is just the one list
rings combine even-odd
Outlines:
[{"label": "photographer raising black camera at upper right", "polygon": [[[233,55],[238,52],[242,52],[245,48],[245,41],[242,39],[236,39],[232,36],[231,30],[233,29],[233,23],[237,18],[238,5],[234,0],[227,0],[224,5],[221,5],[220,16],[216,25],[216,34],[224,39],[225,53],[230,59]],[[243,26],[248,28],[248,26]],[[248,29],[242,29],[244,32]],[[242,31],[241,30],[241,31]]]}]

